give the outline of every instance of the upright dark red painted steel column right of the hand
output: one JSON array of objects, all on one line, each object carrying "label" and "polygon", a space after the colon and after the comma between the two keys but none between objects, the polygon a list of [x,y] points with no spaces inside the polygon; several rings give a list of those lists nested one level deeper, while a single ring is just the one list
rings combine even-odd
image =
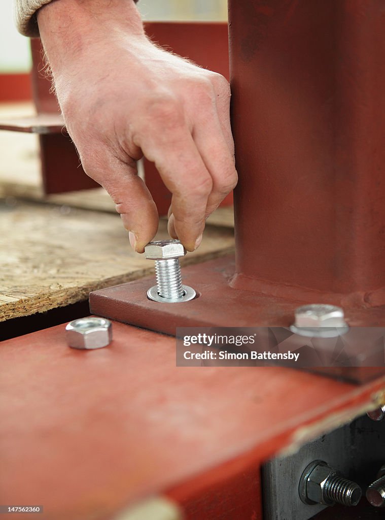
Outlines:
[{"label": "upright dark red painted steel column right of the hand", "polygon": [[383,0],[229,4],[233,287],[385,303]]}]

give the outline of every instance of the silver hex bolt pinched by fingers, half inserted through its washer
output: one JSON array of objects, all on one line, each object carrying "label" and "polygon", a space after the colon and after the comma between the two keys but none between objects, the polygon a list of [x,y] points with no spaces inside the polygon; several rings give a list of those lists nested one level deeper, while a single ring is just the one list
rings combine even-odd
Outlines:
[{"label": "silver hex bolt pinched by fingers, half inserted through its washer", "polygon": [[149,242],[144,248],[145,257],[155,260],[156,285],[147,291],[147,296],[154,302],[188,302],[196,292],[182,284],[179,258],[186,250],[179,240],[157,240]]}]

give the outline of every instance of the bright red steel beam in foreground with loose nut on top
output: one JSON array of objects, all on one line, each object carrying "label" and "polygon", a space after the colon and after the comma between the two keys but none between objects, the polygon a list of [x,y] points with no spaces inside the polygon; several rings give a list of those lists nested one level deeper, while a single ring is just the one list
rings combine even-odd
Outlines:
[{"label": "bright red steel beam in foreground with loose nut on top", "polygon": [[305,428],[312,438],[364,413],[385,383],[178,368],[175,339],[113,327],[111,345],[95,351],[69,348],[64,325],[2,343],[0,503],[107,520],[167,493],[187,520],[260,518],[261,461]]}]

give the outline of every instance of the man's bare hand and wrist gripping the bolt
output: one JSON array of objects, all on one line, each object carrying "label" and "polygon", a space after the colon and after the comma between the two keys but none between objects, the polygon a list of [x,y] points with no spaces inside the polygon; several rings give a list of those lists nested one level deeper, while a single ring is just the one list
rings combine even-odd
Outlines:
[{"label": "man's bare hand and wrist gripping the bolt", "polygon": [[219,74],[156,47],[129,0],[56,0],[38,26],[68,132],[143,252],[158,215],[137,175],[153,161],[172,193],[168,230],[193,251],[234,188],[230,90]]}]

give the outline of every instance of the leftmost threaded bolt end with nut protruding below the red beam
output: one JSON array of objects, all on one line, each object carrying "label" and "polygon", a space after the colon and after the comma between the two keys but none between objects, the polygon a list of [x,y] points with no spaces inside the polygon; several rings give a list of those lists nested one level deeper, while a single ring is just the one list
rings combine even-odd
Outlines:
[{"label": "leftmost threaded bolt end with nut protruding below the red beam", "polygon": [[361,487],[344,478],[322,460],[311,462],[302,473],[299,483],[302,502],[310,505],[357,505],[362,497]]}]

